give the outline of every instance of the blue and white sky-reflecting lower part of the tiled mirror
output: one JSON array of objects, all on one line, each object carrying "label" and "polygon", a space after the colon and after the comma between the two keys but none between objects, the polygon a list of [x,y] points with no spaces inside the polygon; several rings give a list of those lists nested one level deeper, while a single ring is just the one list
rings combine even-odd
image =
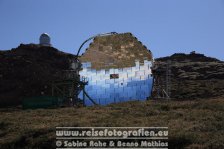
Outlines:
[{"label": "blue and white sky-reflecting lower part of the tiled mirror", "polygon": [[[98,104],[146,100],[151,96],[151,61],[144,60],[143,65],[136,61],[134,67],[109,70],[91,69],[91,63],[86,62],[82,63],[82,68],[80,76],[88,80],[86,91]],[[118,78],[111,78],[111,74]],[[79,97],[82,98],[82,93]],[[86,100],[86,104],[91,105],[91,102]]]}]

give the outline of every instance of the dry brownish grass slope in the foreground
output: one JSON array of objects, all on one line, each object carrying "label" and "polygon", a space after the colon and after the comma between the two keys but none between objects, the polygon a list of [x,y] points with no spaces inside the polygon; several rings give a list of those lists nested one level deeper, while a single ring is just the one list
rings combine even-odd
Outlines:
[{"label": "dry brownish grass slope in the foreground", "polygon": [[224,148],[224,97],[108,106],[0,109],[0,148],[55,148],[56,126],[168,126],[169,148]]}]

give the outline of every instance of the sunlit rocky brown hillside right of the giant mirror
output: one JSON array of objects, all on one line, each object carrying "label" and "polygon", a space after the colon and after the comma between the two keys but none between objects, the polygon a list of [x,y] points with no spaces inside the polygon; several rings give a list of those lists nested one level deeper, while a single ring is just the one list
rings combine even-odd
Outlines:
[{"label": "sunlit rocky brown hillside right of the giant mirror", "polygon": [[224,95],[223,61],[195,52],[156,59],[159,68],[163,70],[168,60],[171,61],[172,98],[194,99]]}]

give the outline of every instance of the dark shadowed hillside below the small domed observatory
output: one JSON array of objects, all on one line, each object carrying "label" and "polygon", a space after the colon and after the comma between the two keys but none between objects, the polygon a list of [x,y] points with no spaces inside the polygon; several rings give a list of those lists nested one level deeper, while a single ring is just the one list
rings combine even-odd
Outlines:
[{"label": "dark shadowed hillside below the small domed observatory", "polygon": [[26,96],[50,94],[50,83],[70,68],[71,54],[35,44],[0,51],[0,107],[17,105]]}]

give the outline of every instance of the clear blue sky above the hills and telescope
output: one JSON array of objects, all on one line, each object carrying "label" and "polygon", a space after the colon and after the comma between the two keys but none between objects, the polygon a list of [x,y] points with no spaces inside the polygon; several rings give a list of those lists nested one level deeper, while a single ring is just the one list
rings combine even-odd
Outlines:
[{"label": "clear blue sky above the hills and telescope", "polygon": [[[0,0],[0,49],[38,43],[75,54],[92,35],[131,32],[154,57],[195,50],[224,60],[224,0]],[[87,44],[88,45],[88,44]]]}]

